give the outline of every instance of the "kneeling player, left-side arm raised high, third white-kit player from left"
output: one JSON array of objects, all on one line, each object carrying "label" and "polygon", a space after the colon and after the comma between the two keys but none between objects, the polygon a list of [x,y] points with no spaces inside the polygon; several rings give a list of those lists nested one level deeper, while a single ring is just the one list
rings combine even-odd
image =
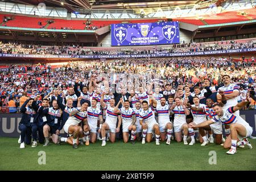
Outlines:
[{"label": "kneeling player, left-side arm raised high, third white-kit player from left", "polygon": [[[105,104],[104,102],[104,95],[105,92],[102,93],[101,96],[101,106],[106,111],[106,120],[105,123],[102,124],[102,127],[100,127],[101,136],[102,136],[102,144],[101,146],[106,145],[106,130],[110,130],[110,142],[115,142],[115,133],[118,133],[120,131],[121,126],[121,116],[114,113],[115,109],[115,100],[111,98],[109,100],[109,106]],[[118,126],[117,126],[117,119],[118,119]]]}]

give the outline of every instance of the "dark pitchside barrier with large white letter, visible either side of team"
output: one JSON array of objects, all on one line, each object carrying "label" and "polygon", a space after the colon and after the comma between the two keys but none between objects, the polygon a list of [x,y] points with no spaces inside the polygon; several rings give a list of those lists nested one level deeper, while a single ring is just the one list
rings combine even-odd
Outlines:
[{"label": "dark pitchside barrier with large white letter, visible either side of team", "polygon": [[[241,110],[240,115],[253,127],[253,136],[256,136],[256,110]],[[19,122],[22,114],[0,114],[0,137],[19,137]],[[64,130],[60,131],[64,135]]]}]

